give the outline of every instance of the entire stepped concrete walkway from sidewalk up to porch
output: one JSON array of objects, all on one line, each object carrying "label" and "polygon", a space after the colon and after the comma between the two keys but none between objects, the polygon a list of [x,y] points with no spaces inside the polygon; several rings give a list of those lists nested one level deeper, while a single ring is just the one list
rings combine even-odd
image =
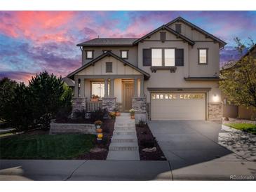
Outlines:
[{"label": "entire stepped concrete walkway from sidewalk up to porch", "polygon": [[116,117],[107,160],[140,160],[135,120],[128,113]]}]

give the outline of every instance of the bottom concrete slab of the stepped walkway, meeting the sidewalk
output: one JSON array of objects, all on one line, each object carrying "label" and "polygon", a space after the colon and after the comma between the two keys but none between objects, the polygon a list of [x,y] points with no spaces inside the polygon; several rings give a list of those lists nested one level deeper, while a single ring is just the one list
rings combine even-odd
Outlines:
[{"label": "bottom concrete slab of the stepped walkway, meeting the sidewalk", "polygon": [[140,160],[139,151],[109,151],[107,160]]}]

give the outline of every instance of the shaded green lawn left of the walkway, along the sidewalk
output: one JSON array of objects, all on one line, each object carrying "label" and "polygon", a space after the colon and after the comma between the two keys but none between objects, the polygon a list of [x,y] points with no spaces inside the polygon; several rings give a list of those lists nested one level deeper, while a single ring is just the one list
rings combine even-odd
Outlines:
[{"label": "shaded green lawn left of the walkway, along the sidewalk", "polygon": [[0,138],[0,158],[72,159],[93,148],[95,135],[14,135]]}]

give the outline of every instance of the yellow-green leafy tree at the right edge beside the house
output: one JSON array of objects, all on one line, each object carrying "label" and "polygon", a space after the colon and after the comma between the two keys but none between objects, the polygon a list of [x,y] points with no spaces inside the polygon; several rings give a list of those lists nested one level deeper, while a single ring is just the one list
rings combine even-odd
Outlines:
[{"label": "yellow-green leafy tree at the right edge beside the house", "polygon": [[256,59],[250,53],[242,56],[246,46],[238,38],[235,41],[241,59],[221,71],[220,88],[224,95],[227,95],[229,102],[256,107]]}]

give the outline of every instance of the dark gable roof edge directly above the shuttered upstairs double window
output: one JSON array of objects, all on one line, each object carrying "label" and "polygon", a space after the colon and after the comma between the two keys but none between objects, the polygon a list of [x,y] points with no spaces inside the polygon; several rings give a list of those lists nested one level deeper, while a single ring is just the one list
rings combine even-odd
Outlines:
[{"label": "dark gable roof edge directly above the shuttered upstairs double window", "polygon": [[149,32],[148,34],[142,36],[140,39],[137,39],[137,41],[134,41],[134,45],[139,43],[140,41],[143,41],[144,39],[150,37],[152,34],[159,32],[160,30],[166,30],[172,34],[174,34],[177,38],[183,39],[184,41],[187,41],[187,43],[189,43],[189,45],[194,46],[194,41],[192,41],[191,39],[187,38],[186,36],[179,34],[177,32],[175,32],[175,30],[171,29],[170,27],[168,27],[167,25],[162,25],[161,27],[154,29],[154,31]]}]

